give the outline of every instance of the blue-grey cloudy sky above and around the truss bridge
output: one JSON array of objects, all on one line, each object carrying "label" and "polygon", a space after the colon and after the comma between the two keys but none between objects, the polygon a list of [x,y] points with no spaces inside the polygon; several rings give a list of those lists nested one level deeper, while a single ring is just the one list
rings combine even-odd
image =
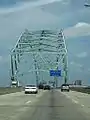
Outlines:
[{"label": "blue-grey cloudy sky above and around the truss bridge", "polygon": [[10,50],[25,28],[63,28],[70,81],[82,79],[89,84],[90,8],[85,8],[84,3],[85,0],[0,0],[0,84],[9,83]]}]

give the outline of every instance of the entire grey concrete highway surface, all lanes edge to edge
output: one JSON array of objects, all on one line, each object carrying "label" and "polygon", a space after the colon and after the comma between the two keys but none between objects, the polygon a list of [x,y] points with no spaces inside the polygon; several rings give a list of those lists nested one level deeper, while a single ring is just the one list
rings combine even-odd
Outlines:
[{"label": "entire grey concrete highway surface, all lanes edge to edge", "polygon": [[90,120],[89,100],[90,95],[60,90],[1,95],[0,120]]}]

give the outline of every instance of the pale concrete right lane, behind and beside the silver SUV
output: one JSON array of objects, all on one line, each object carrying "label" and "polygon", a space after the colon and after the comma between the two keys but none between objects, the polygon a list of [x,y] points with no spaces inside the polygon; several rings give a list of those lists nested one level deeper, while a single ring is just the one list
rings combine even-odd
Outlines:
[{"label": "pale concrete right lane, behind and beside the silver SUV", "polygon": [[70,91],[62,92],[67,98],[80,105],[86,113],[90,114],[90,94]]}]

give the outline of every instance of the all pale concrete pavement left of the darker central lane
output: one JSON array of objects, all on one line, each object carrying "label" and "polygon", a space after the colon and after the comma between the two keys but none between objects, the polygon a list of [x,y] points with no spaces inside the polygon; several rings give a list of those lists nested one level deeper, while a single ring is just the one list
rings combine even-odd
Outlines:
[{"label": "all pale concrete pavement left of the darker central lane", "polygon": [[6,95],[8,97],[0,96],[0,120],[16,119],[20,113],[28,109],[30,104],[34,104],[34,102],[38,101],[43,94],[44,92],[40,91],[37,95],[25,95],[24,92],[21,92],[13,94],[11,97],[10,95]]}]

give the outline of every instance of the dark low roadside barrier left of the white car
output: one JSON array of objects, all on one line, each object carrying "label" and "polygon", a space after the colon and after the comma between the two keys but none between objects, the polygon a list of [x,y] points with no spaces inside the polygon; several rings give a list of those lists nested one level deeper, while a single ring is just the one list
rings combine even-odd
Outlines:
[{"label": "dark low roadside barrier left of the white car", "polygon": [[0,87],[0,95],[21,92],[21,91],[22,91],[22,87],[16,87],[16,88]]}]

